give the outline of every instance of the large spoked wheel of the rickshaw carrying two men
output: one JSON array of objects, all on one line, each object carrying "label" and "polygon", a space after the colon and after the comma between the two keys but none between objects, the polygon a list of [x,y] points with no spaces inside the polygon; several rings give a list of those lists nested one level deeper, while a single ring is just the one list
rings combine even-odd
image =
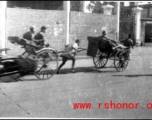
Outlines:
[{"label": "large spoked wheel of the rickshaw carrying two men", "polygon": [[42,80],[49,79],[58,68],[58,56],[54,51],[41,51],[36,55],[36,63],[35,76]]}]

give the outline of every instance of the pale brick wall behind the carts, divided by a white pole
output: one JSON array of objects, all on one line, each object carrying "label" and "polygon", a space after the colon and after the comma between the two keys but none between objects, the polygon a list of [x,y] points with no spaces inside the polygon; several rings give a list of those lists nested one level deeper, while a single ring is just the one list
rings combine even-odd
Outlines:
[{"label": "pale brick wall behind the carts, divided by a white pole", "polygon": [[[60,26],[56,24],[60,21]],[[116,16],[103,14],[90,14],[82,12],[70,13],[70,43],[79,38],[81,46],[87,48],[87,36],[101,35],[102,28],[107,28],[108,36],[116,38]],[[47,43],[57,51],[63,50],[66,43],[66,12],[56,10],[34,10],[7,8],[6,13],[6,38],[8,36],[22,37],[29,26],[36,26],[36,32],[42,25],[49,26],[46,31]],[[6,47],[13,48],[8,55],[20,55],[24,52],[21,46],[14,45],[6,40]],[[86,55],[86,51],[79,53]]]}]

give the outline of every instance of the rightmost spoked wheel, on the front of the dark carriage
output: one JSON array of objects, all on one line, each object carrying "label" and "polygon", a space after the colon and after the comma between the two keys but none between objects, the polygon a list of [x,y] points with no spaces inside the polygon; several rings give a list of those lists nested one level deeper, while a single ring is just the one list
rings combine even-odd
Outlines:
[{"label": "rightmost spoked wheel, on the front of the dark carriage", "polygon": [[118,72],[124,71],[128,66],[128,53],[118,51],[114,57],[114,67]]}]

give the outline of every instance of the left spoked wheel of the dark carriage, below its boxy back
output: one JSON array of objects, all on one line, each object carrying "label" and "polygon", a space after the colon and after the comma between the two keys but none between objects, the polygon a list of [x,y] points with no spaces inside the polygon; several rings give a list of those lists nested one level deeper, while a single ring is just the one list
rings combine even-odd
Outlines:
[{"label": "left spoked wheel of the dark carriage, below its boxy back", "polygon": [[108,56],[103,55],[99,50],[95,57],[93,57],[93,63],[97,68],[103,68],[108,62]]}]

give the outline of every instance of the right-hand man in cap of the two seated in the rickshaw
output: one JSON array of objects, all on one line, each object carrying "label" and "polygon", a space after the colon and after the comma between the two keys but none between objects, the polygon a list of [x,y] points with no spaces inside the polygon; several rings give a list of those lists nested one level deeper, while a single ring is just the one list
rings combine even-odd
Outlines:
[{"label": "right-hand man in cap of the two seated in the rickshaw", "polygon": [[34,41],[37,43],[37,45],[43,46],[45,43],[45,32],[46,32],[47,27],[42,26],[40,31],[34,36]]}]

